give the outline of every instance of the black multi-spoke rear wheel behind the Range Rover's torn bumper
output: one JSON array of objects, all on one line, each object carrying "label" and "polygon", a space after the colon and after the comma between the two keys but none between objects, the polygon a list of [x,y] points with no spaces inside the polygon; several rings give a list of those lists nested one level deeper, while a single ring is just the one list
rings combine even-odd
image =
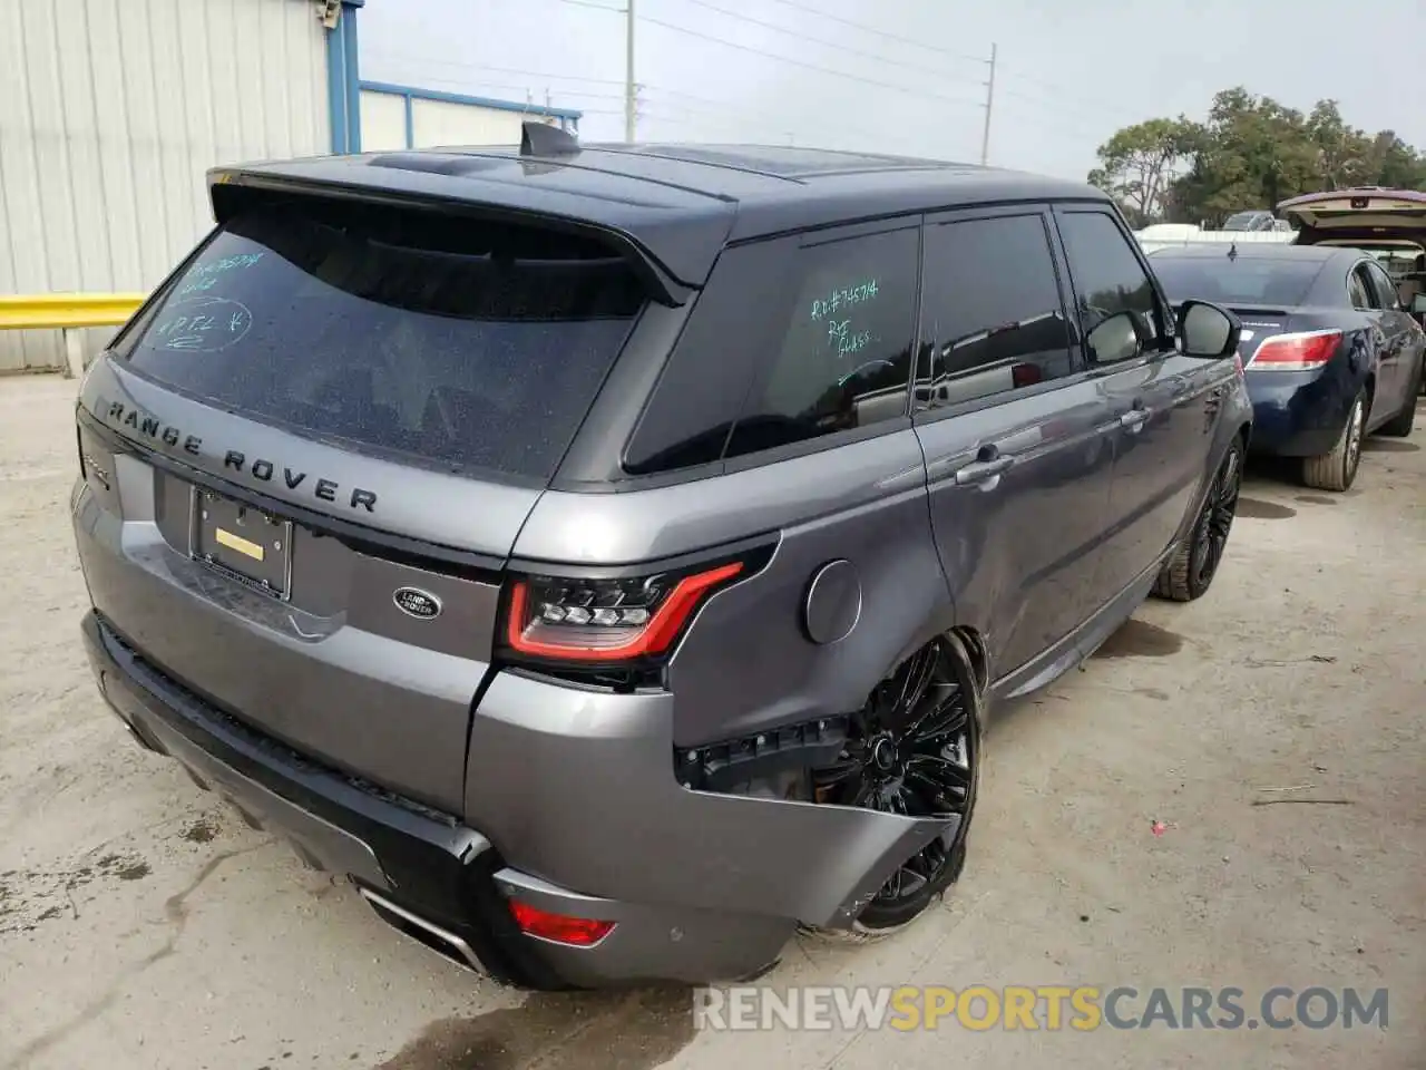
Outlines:
[{"label": "black multi-spoke rear wheel behind the Range Rover's torn bumper", "polygon": [[[813,773],[819,802],[913,817],[958,813],[961,820],[907,859],[850,929],[803,926],[804,933],[854,942],[891,936],[955,883],[980,785],[981,703],[965,648],[941,635],[888,673],[853,716],[843,760]],[[898,730],[910,725],[917,729]]]}]

